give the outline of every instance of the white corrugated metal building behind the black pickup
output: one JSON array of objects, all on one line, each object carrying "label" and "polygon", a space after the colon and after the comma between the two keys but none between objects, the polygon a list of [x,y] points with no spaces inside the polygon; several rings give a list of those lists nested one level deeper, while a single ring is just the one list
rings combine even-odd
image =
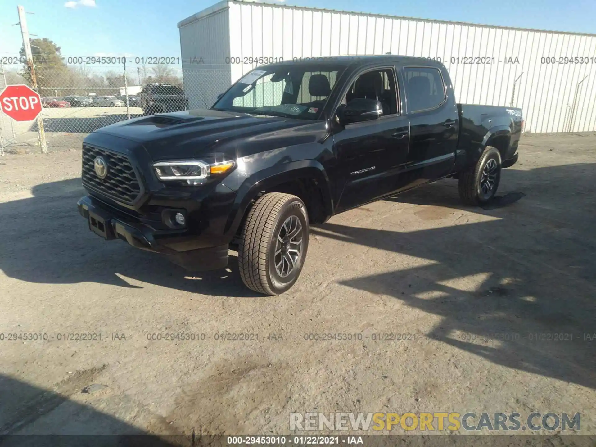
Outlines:
[{"label": "white corrugated metal building behind the black pickup", "polygon": [[178,27],[191,107],[213,104],[260,57],[390,52],[442,61],[460,103],[521,107],[526,132],[596,130],[596,35],[236,0]]}]

